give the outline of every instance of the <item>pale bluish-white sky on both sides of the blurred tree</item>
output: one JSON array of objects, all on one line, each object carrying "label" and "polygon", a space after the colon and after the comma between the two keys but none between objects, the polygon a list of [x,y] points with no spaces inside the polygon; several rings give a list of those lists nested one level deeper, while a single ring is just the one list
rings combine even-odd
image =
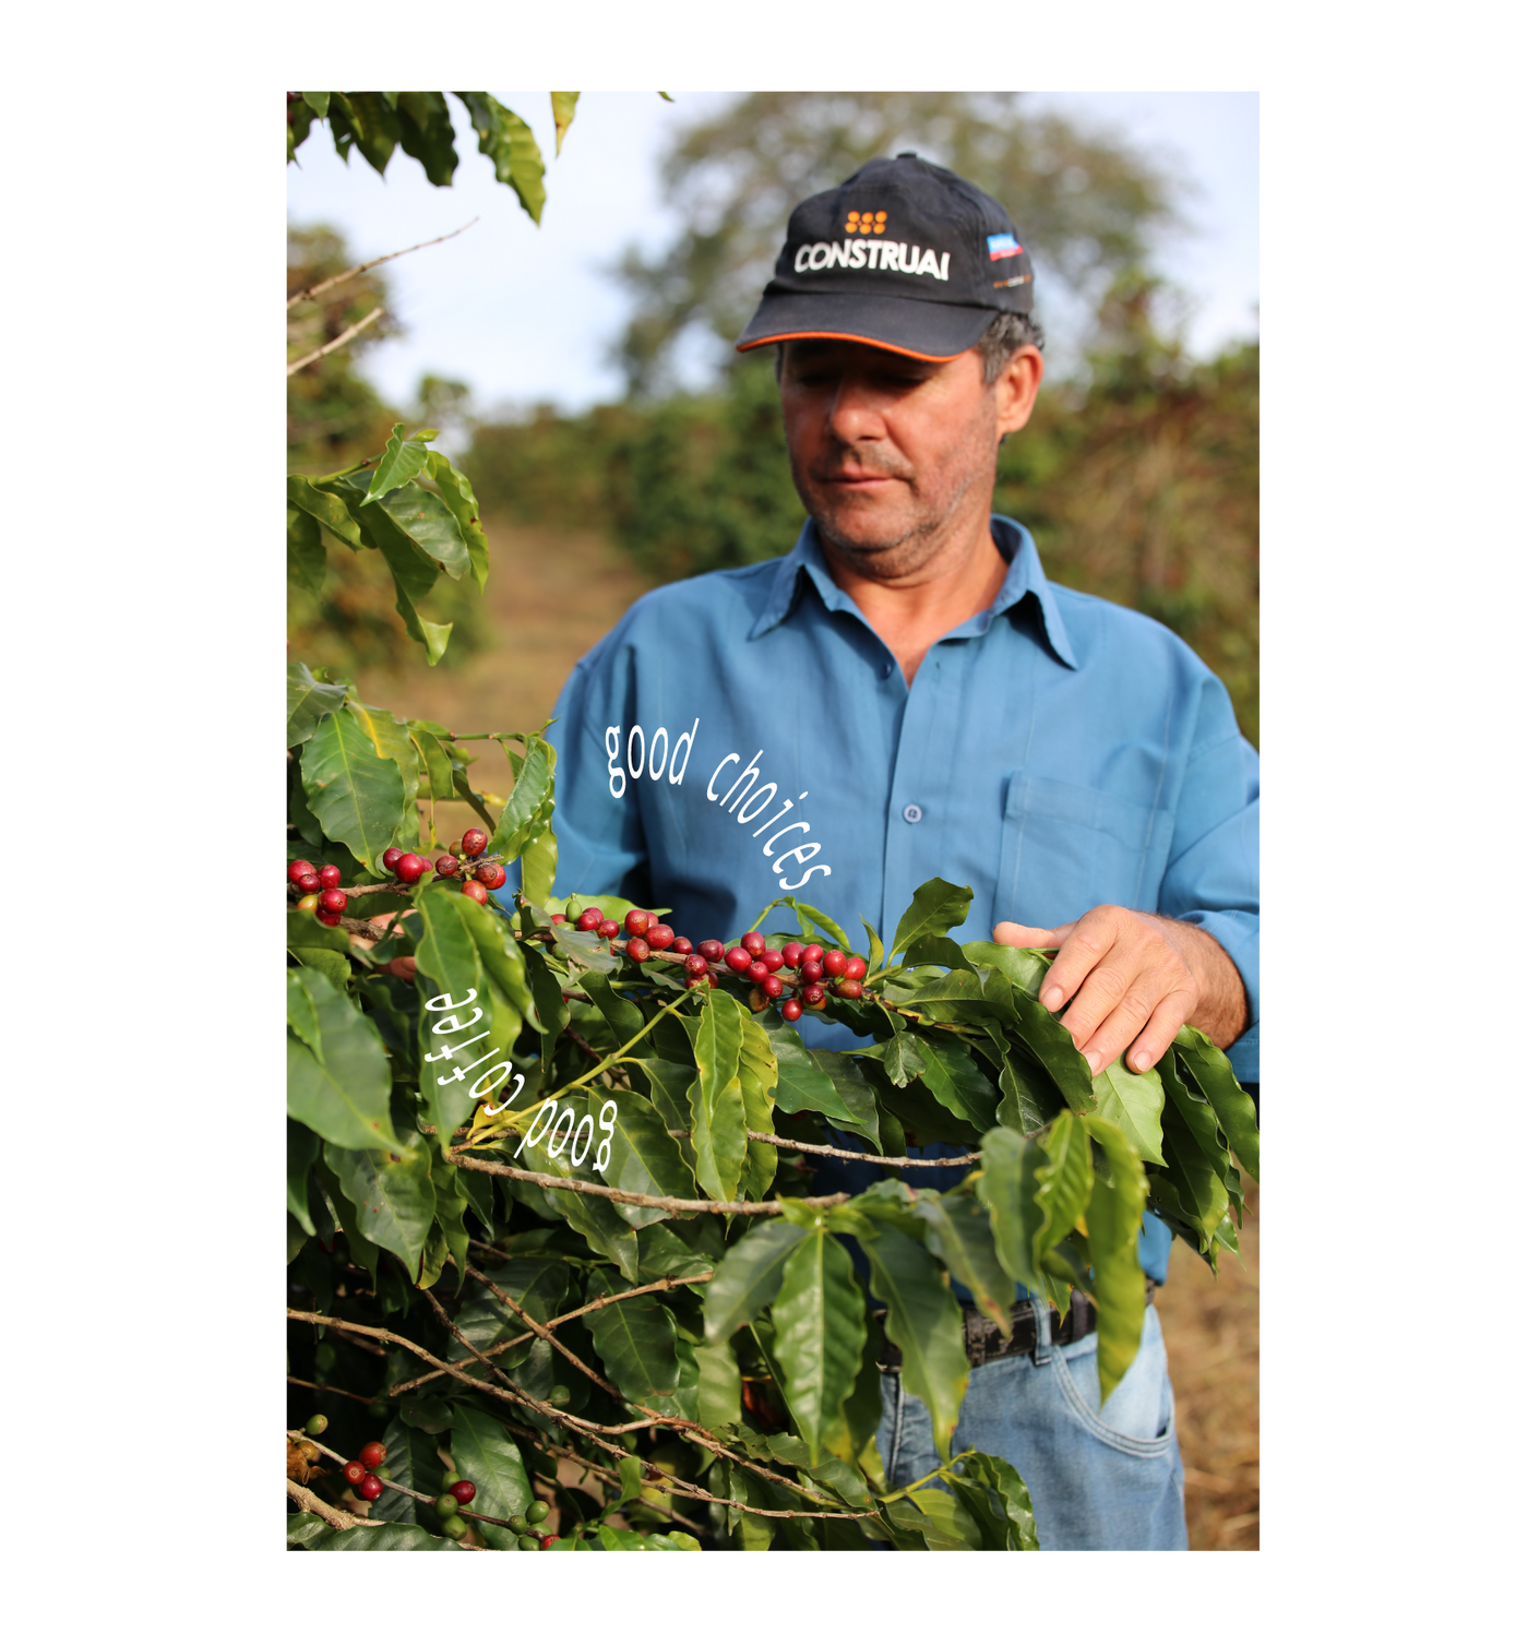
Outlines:
[{"label": "pale bluish-white sky on both sides of the blurred tree", "polygon": [[[563,155],[546,87],[493,87],[530,123],[546,158],[538,229],[515,192],[493,181],[462,109],[452,102],[461,166],[447,189],[398,151],[385,178],[334,153],[314,127],[283,171],[286,220],[329,222],[357,260],[475,225],[446,245],[387,265],[405,336],[365,355],[395,405],[413,403],[426,372],[465,382],[479,410],[539,401],[579,411],[620,398],[607,357],[628,299],[612,265],[637,243],[656,252],[678,222],[660,199],[658,161],[681,120],[704,117],[732,87],[586,87]],[[1158,266],[1189,294],[1191,349],[1207,355],[1262,331],[1263,94],[1247,87],[1035,87],[1031,107],[1112,130],[1186,184],[1188,232]]]}]

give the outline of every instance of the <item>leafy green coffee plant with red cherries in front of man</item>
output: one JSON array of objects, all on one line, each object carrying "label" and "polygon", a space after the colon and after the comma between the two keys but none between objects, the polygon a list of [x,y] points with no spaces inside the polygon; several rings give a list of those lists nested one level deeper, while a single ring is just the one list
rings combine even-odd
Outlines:
[{"label": "leafy green coffee plant with red cherries in front of man", "polygon": [[[954,943],[970,890],[944,880],[862,952],[793,897],[730,941],[553,897],[543,735],[398,719],[301,661],[283,686],[285,1543],[1035,1551],[1013,1467],[951,1454],[949,1281],[1003,1331],[1015,1281],[1063,1314],[1086,1291],[1107,1398],[1143,1209],[1214,1265],[1232,1153],[1262,1181],[1225,1058],[1184,1028],[1156,1069],[1092,1076],[1040,1005],[1046,956]],[[472,744],[508,760],[497,816]],[[482,826],[441,842],[447,798]],[[808,1050],[808,1012],[867,1046]],[[936,1138],[964,1152],[908,1156]],[[845,1153],[890,1175],[813,1194]],[[970,1173],[919,1189],[933,1163]],[[942,1456],[900,1490],[873,1439],[887,1341]]]}]

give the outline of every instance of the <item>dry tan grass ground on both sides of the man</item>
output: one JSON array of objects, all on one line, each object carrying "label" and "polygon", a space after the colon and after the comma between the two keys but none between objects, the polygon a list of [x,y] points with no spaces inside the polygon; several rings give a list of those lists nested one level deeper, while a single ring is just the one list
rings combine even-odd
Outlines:
[{"label": "dry tan grass ground on both sides of the man", "polygon": [[[363,674],[368,701],[452,730],[535,730],[551,714],[572,665],[646,584],[597,533],[488,525],[493,574],[487,600],[502,643],[459,670],[423,660],[395,674]],[[416,651],[416,648],[411,648]],[[505,793],[497,753],[474,767],[479,788]],[[439,808],[441,837],[472,821]],[[1253,1191],[1242,1232],[1245,1268],[1229,1258],[1219,1280],[1183,1244],[1158,1293],[1178,1390],[1194,1553],[1263,1551],[1263,1196]]]}]

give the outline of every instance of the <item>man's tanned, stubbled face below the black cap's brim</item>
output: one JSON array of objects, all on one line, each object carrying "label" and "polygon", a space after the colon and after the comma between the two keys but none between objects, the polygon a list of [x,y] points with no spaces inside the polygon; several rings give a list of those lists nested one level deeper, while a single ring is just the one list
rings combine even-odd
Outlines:
[{"label": "man's tanned, stubbled face below the black cap's brim", "polygon": [[1040,355],[990,388],[975,350],[934,364],[864,342],[785,345],[791,475],[827,543],[877,579],[916,574],[965,515],[985,520],[998,439],[1030,418]]}]

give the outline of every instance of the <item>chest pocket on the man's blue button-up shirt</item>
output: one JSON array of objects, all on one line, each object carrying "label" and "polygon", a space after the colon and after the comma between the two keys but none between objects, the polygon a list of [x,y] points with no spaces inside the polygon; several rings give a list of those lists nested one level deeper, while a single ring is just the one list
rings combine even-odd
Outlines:
[{"label": "chest pocket on the man's blue button-up shirt", "polygon": [[1056,926],[1099,903],[1155,910],[1173,819],[1035,772],[1008,778],[992,916]]}]

